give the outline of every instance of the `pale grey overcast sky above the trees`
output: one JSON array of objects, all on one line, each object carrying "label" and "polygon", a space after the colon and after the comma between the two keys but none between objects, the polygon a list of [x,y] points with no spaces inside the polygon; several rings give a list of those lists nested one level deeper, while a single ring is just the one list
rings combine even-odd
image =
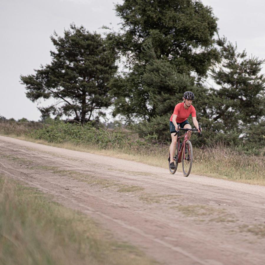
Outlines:
[{"label": "pale grey overcast sky above the trees", "polygon": [[[122,3],[122,0],[115,3]],[[237,42],[238,50],[265,59],[264,0],[202,0],[218,17],[219,35]],[[0,115],[18,120],[39,120],[37,104],[25,95],[19,75],[33,74],[50,62],[53,45],[49,36],[63,35],[70,23],[103,32],[102,25],[117,30],[112,0],[1,0]],[[264,68],[262,72],[265,73]]]}]

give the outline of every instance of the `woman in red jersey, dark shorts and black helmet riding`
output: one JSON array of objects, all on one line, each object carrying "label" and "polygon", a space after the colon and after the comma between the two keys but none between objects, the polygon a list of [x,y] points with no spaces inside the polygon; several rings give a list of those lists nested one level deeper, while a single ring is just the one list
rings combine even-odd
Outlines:
[{"label": "woman in red jersey, dark shorts and black helmet riding", "polygon": [[[172,142],[170,145],[170,168],[175,169],[174,164],[174,154],[177,144],[178,135],[174,136],[174,134],[178,131],[178,125],[180,128],[190,128],[191,125],[189,124],[187,118],[191,115],[192,121],[198,132],[199,130],[199,124],[196,119],[196,110],[193,105],[191,105],[192,101],[194,100],[194,94],[191,91],[186,91],[183,95],[183,102],[178,103],[175,106],[174,112],[171,115],[169,126],[170,126],[170,133]],[[191,131],[188,131],[188,138],[191,138]]]}]

